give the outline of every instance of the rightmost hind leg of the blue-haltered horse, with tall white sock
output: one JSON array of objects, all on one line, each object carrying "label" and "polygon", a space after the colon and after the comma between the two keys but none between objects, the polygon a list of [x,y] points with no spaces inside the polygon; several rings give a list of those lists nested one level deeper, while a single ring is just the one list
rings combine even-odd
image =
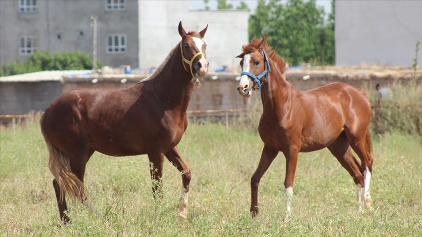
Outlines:
[{"label": "rightmost hind leg of the blue-haltered horse, with tall white sock", "polygon": [[[364,131],[364,132],[362,132]],[[354,133],[346,131],[350,146],[356,152],[362,163],[360,172],[363,173],[362,198],[367,208],[372,208],[372,199],[369,194],[369,184],[372,173],[372,140],[368,129],[356,130]]]}]

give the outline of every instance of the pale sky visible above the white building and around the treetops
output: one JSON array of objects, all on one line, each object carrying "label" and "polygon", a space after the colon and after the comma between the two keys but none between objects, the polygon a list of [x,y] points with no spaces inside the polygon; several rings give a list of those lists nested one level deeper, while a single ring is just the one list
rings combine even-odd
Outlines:
[{"label": "pale sky visible above the white building and around the treetops", "polygon": [[[251,9],[251,14],[255,12],[256,5],[258,4],[257,0],[243,0],[248,4],[249,8]],[[282,0],[286,1],[286,0]],[[239,5],[240,0],[227,0],[227,3],[233,4],[234,8],[236,8],[237,5]],[[316,1],[317,6],[322,6],[324,8],[325,13],[328,15],[328,13],[331,13],[331,0],[317,0]],[[211,10],[217,9],[217,0],[210,0],[208,3]],[[201,10],[204,9],[204,1],[203,0],[190,0],[190,9],[191,10]]]}]

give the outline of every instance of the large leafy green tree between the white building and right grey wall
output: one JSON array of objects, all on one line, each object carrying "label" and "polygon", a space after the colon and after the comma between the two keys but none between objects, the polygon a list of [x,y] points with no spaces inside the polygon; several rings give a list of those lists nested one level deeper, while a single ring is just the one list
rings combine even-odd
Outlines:
[{"label": "large leafy green tree between the white building and right grey wall", "polygon": [[283,3],[259,0],[249,19],[249,38],[267,35],[268,43],[293,65],[334,63],[333,13],[324,22],[324,10],[315,0]]}]

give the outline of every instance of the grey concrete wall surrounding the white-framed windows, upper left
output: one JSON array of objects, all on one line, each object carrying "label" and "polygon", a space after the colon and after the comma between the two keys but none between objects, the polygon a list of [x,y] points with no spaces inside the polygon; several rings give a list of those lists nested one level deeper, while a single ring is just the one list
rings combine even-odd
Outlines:
[{"label": "grey concrete wall surrounding the white-framed windows, upper left", "polygon": [[[136,1],[126,1],[125,11],[105,11],[105,0],[38,0],[38,12],[19,13],[18,1],[0,1],[1,62],[19,56],[19,37],[37,36],[39,50],[92,53],[91,16],[97,16],[97,56],[105,65],[138,66],[138,9]],[[83,32],[83,36],[80,35]],[[57,35],[61,35],[59,40]],[[107,54],[108,34],[126,34],[127,52]]]}]

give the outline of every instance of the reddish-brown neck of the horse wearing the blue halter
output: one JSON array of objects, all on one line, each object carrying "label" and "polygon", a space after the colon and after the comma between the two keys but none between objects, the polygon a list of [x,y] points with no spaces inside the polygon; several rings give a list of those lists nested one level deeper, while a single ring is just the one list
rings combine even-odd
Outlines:
[{"label": "reddish-brown neck of the horse wearing the blue halter", "polygon": [[261,89],[263,114],[266,117],[273,117],[277,112],[285,111],[284,107],[291,104],[293,94],[297,91],[287,82],[285,74],[281,73],[276,65],[272,64],[271,68],[273,70]]}]

